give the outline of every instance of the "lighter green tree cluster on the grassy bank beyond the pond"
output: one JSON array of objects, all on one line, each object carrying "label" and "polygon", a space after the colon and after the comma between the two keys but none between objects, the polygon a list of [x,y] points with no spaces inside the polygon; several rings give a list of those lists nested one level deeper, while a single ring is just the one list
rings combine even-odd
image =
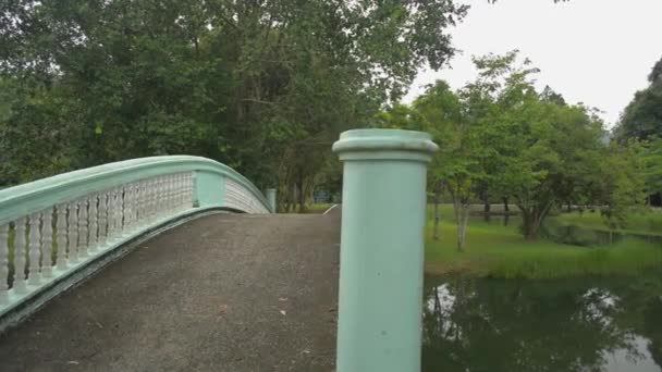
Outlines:
[{"label": "lighter green tree cluster on the grassy bank beyond the pond", "polygon": [[567,104],[550,87],[538,92],[538,69],[519,62],[517,50],[474,64],[478,77],[462,89],[437,82],[412,107],[394,104],[378,116],[381,126],[424,129],[440,145],[430,179],[453,199],[458,249],[477,200],[488,208],[490,199],[513,200],[529,239],[563,204],[604,206],[609,225],[624,227],[629,210],[645,202],[645,174],[660,175],[659,144],[605,145],[597,112]]}]

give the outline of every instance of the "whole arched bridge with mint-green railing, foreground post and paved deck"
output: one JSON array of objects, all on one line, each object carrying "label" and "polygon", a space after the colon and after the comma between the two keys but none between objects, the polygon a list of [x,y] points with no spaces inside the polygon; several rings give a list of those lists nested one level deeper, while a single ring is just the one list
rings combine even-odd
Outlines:
[{"label": "whole arched bridge with mint-green railing, foreground post and paved deck", "polygon": [[342,134],[342,239],[339,209],[274,214],[275,190],[197,157],[1,190],[0,370],[418,371],[434,150]]}]

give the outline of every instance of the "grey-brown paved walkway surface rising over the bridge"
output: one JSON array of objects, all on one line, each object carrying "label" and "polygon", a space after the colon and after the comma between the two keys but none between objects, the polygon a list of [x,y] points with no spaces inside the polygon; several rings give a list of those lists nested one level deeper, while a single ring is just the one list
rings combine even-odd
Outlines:
[{"label": "grey-brown paved walkway surface rising over the bridge", "polygon": [[333,371],[339,208],[214,214],[0,336],[0,371]]}]

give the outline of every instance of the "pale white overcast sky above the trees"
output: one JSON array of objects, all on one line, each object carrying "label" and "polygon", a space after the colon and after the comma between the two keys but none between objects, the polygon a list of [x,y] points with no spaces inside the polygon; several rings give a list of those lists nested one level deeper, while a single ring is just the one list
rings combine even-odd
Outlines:
[{"label": "pale white overcast sky above the trees", "polygon": [[540,87],[551,86],[572,103],[602,111],[608,127],[662,58],[662,0],[461,0],[471,5],[450,29],[461,54],[442,71],[421,71],[405,102],[427,84],[445,79],[454,88],[476,76],[471,55],[519,49],[541,70]]}]

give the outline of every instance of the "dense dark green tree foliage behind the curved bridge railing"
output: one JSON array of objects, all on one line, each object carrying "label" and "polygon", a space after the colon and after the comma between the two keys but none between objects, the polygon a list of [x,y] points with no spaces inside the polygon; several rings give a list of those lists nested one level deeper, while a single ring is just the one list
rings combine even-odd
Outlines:
[{"label": "dense dark green tree foliage behind the curved bridge railing", "polygon": [[[199,154],[299,202],[341,131],[454,53],[434,1],[7,0],[0,184]],[[14,92],[16,91],[16,92]],[[7,103],[5,103],[7,102]]]}]

